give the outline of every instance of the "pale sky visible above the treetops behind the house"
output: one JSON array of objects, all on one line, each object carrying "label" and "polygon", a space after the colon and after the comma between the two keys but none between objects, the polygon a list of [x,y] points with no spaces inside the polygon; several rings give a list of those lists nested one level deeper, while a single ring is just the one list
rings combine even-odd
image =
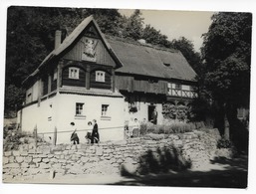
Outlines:
[{"label": "pale sky visible above the treetops behind the house", "polygon": [[[121,9],[122,15],[130,16],[134,10]],[[185,37],[192,41],[195,51],[202,46],[201,35],[208,31],[214,12],[140,10],[144,24],[150,24],[168,40]]]}]

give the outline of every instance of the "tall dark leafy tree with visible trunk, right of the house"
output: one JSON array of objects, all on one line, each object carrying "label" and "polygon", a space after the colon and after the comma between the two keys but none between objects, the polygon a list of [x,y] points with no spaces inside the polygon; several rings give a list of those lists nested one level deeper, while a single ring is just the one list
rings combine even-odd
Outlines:
[{"label": "tall dark leafy tree with visible trunk, right of the house", "polygon": [[211,19],[203,35],[205,85],[228,120],[230,137],[237,140],[237,107],[249,107],[252,15],[226,12]]}]

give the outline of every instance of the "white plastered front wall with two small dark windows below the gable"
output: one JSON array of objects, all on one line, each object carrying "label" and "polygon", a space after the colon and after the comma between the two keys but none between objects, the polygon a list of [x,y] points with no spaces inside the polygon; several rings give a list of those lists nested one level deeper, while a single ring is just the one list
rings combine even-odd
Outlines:
[{"label": "white plastered front wall with two small dark windows below the gable", "polygon": [[[85,117],[76,116],[76,103],[84,103],[83,114]],[[103,119],[102,104],[109,104],[110,119]],[[71,122],[75,122],[80,141],[86,142],[89,130],[88,122],[97,119],[101,141],[124,139],[124,98],[123,97],[98,97],[79,95],[58,95],[56,104],[56,127],[58,129],[57,143],[70,142],[72,132]],[[107,129],[108,128],[108,129]]]}]

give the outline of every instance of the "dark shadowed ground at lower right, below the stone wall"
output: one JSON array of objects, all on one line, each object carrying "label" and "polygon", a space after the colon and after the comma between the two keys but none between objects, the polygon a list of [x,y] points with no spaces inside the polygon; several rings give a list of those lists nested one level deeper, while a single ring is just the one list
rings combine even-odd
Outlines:
[{"label": "dark shadowed ground at lower right, below the stone wall", "polygon": [[114,185],[246,188],[247,166],[247,156],[218,158],[197,170],[133,176],[132,180],[116,182]]}]

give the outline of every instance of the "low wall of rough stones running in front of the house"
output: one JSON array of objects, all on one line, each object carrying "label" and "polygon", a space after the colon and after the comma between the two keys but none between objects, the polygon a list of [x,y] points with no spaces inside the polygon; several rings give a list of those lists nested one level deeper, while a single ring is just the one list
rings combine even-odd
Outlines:
[{"label": "low wall of rough stones running in front of the house", "polygon": [[119,142],[95,145],[20,145],[19,150],[3,155],[3,181],[26,180],[41,174],[115,174],[124,165],[129,172],[138,166],[139,156],[147,150],[178,148],[192,168],[207,164],[214,157],[217,129],[194,130],[182,134],[151,134]]}]

